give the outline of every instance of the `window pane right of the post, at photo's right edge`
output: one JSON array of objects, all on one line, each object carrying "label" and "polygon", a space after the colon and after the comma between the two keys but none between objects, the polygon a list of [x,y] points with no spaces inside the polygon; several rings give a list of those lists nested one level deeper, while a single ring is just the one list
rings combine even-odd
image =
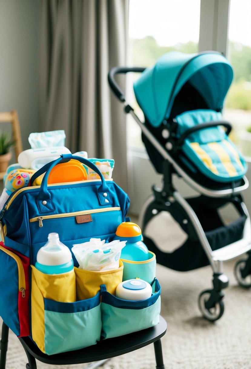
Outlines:
[{"label": "window pane right of the post, at photo's right edge", "polygon": [[234,80],[227,95],[224,117],[233,124],[232,139],[251,156],[251,1],[231,0],[227,57]]}]

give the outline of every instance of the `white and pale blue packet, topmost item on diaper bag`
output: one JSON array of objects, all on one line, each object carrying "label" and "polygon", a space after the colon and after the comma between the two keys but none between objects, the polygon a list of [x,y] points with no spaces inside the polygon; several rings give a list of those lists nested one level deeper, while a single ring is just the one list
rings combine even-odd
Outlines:
[{"label": "white and pale blue packet, topmost item on diaper bag", "polygon": [[65,140],[66,134],[64,130],[34,132],[28,138],[32,149],[64,146]]}]

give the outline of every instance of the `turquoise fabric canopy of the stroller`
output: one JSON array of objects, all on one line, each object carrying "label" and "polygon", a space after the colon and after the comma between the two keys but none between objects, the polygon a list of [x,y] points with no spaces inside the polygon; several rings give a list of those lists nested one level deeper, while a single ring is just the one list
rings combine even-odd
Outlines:
[{"label": "turquoise fabric canopy of the stroller", "polygon": [[154,127],[169,118],[174,99],[189,82],[209,109],[222,109],[233,80],[233,69],[225,56],[216,52],[184,54],[169,52],[144,70],[134,83],[139,106]]}]

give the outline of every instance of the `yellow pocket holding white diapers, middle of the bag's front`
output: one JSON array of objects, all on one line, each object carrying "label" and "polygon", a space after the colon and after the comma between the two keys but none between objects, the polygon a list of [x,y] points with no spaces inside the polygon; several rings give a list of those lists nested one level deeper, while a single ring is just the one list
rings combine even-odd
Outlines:
[{"label": "yellow pocket holding white diapers, middle of the bag's front", "polygon": [[119,261],[119,268],[114,270],[105,270],[103,272],[94,272],[92,270],[75,269],[77,300],[85,300],[95,296],[101,284],[105,284],[107,292],[115,295],[117,285],[122,282],[123,262]]}]

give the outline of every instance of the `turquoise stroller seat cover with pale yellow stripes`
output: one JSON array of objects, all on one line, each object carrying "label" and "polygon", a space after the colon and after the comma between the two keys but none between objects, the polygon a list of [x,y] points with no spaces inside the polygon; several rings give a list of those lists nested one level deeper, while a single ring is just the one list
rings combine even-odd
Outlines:
[{"label": "turquoise stroller seat cover with pale yellow stripes", "polygon": [[[222,114],[213,110],[193,110],[176,117],[177,145],[205,176],[217,182],[232,182],[241,179],[247,171],[247,164],[238,152],[225,130],[220,125],[231,126],[222,120]],[[181,160],[185,165],[184,156]]]}]

